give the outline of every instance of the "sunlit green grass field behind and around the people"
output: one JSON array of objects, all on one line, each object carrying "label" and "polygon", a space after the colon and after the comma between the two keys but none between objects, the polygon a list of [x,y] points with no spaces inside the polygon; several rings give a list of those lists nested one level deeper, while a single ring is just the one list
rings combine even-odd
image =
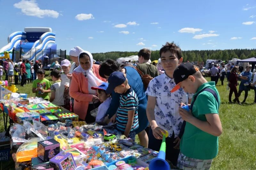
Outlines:
[{"label": "sunlit green grass field behind and around the people", "polygon": [[[51,79],[49,72],[46,72],[46,78]],[[209,81],[209,78],[207,78]],[[217,89],[220,92],[220,120],[222,122],[223,133],[219,138],[219,154],[213,159],[211,169],[255,169],[256,167],[256,104],[254,100],[254,91],[249,91],[247,103],[243,105],[228,104],[228,93],[226,89],[227,81],[224,86],[218,82]],[[27,93],[28,96],[34,96],[32,93],[32,83],[20,87],[17,85],[20,93]],[[232,99],[234,98],[234,95]],[[244,92],[240,96],[240,101],[244,99]],[[203,104],[203,103],[202,103]],[[2,114],[0,121],[3,121]],[[4,131],[3,123],[0,123],[0,130]],[[6,166],[2,166],[6,167]],[[9,169],[4,168],[4,169]]]}]

